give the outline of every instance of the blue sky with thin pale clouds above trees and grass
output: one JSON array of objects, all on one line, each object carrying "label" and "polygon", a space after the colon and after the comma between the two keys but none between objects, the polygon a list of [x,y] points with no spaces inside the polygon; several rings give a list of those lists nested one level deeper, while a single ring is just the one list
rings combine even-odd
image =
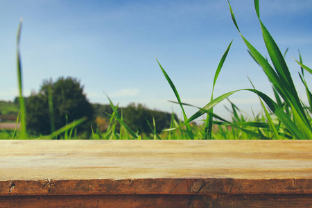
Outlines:
[{"label": "blue sky with thin pale clouds above trees and grass", "polygon": [[[231,1],[243,35],[263,54],[266,49],[252,0]],[[286,61],[300,97],[305,92],[292,56],[299,49],[312,66],[312,1],[261,0],[261,19]],[[64,1],[0,0],[0,100],[17,96],[16,33],[21,35],[24,95],[38,91],[43,80],[71,76],[84,85],[92,103],[120,106],[142,103],[151,109],[180,114],[175,96],[159,69],[159,60],[175,83],[182,102],[206,105],[214,72],[234,39],[214,90],[220,96],[234,89],[272,89],[250,58],[229,14],[226,0],[198,1]],[[247,77],[248,76],[248,77]],[[309,74],[307,78],[309,79]],[[229,97],[250,113],[260,110],[257,96],[239,92]],[[228,117],[223,105],[216,113]],[[196,112],[187,107],[187,114]]]}]

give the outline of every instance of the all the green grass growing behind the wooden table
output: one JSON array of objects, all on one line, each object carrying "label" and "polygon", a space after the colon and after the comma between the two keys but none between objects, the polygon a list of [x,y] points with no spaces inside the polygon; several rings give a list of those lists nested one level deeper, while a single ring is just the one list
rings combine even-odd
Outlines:
[{"label": "all the green grass growing behind the wooden table", "polygon": [[[272,90],[275,94],[274,98],[270,98],[266,93],[260,92],[255,89],[252,85],[252,80],[250,80],[252,88],[250,89],[237,89],[232,92],[227,92],[220,96],[214,95],[214,87],[220,70],[225,63],[227,55],[230,55],[230,48],[232,42],[229,43],[225,53],[220,58],[218,65],[216,67],[216,73],[214,80],[211,80],[212,90],[210,98],[207,98],[207,105],[203,107],[193,106],[188,103],[183,103],[180,94],[177,92],[175,85],[173,84],[168,73],[165,71],[164,67],[159,64],[159,67],[164,74],[168,84],[170,85],[175,98],[177,101],[173,101],[177,105],[180,105],[182,110],[183,121],[177,121],[174,118],[174,114],[171,118],[171,127],[168,130],[164,130],[162,133],[157,134],[155,120],[153,123],[148,125],[152,130],[150,135],[138,135],[123,121],[123,114],[119,114],[118,105],[114,105],[110,98],[113,113],[109,114],[111,116],[110,123],[106,132],[99,132],[96,126],[92,126],[92,135],[89,135],[89,139],[312,139],[312,124],[311,124],[311,113],[312,113],[312,94],[309,90],[309,86],[305,80],[306,72],[312,73],[311,68],[307,67],[302,62],[301,54],[299,61],[297,62],[298,67],[301,67],[299,73],[302,80],[302,84],[306,89],[306,96],[309,103],[304,103],[300,100],[300,96],[297,94],[295,85],[293,83],[293,78],[285,62],[284,55],[279,50],[279,47],[275,43],[275,40],[270,35],[269,31],[266,29],[264,24],[260,19],[260,9],[259,0],[254,0],[255,13],[259,20],[259,25],[263,35],[263,42],[268,51],[268,56],[270,60],[267,60],[266,55],[261,55],[257,49],[245,39],[239,30],[239,24],[236,22],[234,12],[228,1],[229,12],[232,17],[232,21],[238,33],[241,35],[243,42],[247,46],[248,53],[251,58],[259,65],[259,68],[263,70],[263,73],[268,77],[268,85],[272,85]],[[19,41],[21,35],[21,24],[19,24],[19,30],[17,33],[17,74],[19,83],[19,95],[20,95],[20,118],[21,118],[21,130],[15,132],[1,131],[1,135],[6,135],[3,137],[12,137],[20,139],[29,139],[31,136],[27,135],[26,131],[26,111],[24,105],[24,98],[22,94],[21,85],[21,56],[19,53]],[[270,64],[272,62],[272,64]],[[242,110],[239,109],[234,103],[229,101],[229,96],[235,94],[236,92],[241,93],[252,93],[259,97],[259,103],[263,107],[263,112],[259,114],[245,115]],[[49,97],[52,97],[51,95]],[[216,97],[216,98],[215,98]],[[229,114],[232,116],[231,121],[224,119],[214,113],[214,106],[218,105],[221,101],[228,100],[231,106],[228,109]],[[184,106],[196,107],[198,111],[187,116],[184,111]],[[49,100],[50,113],[53,114],[53,101]],[[200,116],[205,115],[201,125],[196,125],[192,123]],[[75,132],[75,127],[85,121],[85,118],[79,119],[78,121],[73,121],[67,124],[60,130],[53,131],[51,135],[42,136],[36,139],[53,139],[55,137],[60,137],[61,139],[78,139],[78,136],[73,133]],[[53,118],[51,118],[51,129],[53,130]],[[0,135],[0,136],[1,136]]]}]

